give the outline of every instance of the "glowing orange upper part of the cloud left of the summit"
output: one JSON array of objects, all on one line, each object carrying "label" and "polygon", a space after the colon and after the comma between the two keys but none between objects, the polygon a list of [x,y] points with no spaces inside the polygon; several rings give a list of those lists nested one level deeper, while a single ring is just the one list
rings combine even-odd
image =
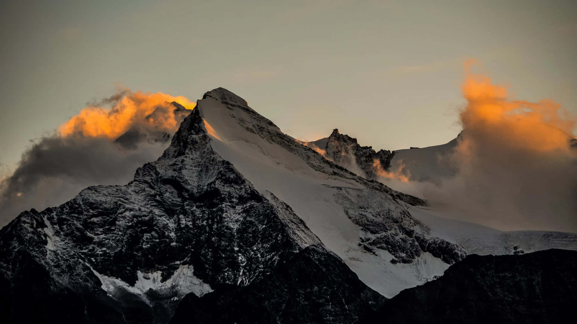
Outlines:
[{"label": "glowing orange upper part of the cloud left of the summit", "polygon": [[[155,129],[163,129],[174,133],[177,120],[171,102],[193,109],[196,103],[183,96],[171,96],[164,93],[125,92],[114,101],[110,109],[88,106],[59,127],[62,137],[79,134],[84,137],[106,137],[114,139],[125,133],[135,123],[148,123]],[[158,108],[164,108],[158,110]],[[153,112],[159,112],[151,115]]]}]

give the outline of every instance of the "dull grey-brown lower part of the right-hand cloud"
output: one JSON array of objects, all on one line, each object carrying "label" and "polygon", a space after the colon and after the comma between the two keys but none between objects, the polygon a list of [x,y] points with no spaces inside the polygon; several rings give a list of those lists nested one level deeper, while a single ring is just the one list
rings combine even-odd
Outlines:
[{"label": "dull grey-brown lower part of the right-hand cloud", "polygon": [[452,156],[459,158],[458,174],[424,188],[433,206],[504,230],[577,232],[577,154],[514,149],[492,134],[471,138],[469,159],[458,151]]}]

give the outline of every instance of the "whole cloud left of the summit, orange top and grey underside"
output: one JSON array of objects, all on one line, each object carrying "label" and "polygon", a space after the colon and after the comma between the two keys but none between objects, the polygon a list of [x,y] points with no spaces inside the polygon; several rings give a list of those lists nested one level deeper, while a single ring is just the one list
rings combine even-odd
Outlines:
[{"label": "whole cloud left of the summit, orange top and grey underside", "polygon": [[166,149],[190,112],[185,107],[194,103],[128,89],[88,104],[54,134],[33,141],[16,170],[0,178],[0,225],[24,210],[62,204],[85,187],[129,182],[136,168]]}]

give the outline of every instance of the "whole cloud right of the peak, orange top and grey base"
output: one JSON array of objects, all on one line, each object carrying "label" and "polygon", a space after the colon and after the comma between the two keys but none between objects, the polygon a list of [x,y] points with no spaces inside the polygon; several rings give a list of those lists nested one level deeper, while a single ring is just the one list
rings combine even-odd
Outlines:
[{"label": "whole cloud right of the peak, orange top and grey base", "polygon": [[[515,100],[466,63],[454,150],[440,157],[456,175],[395,189],[418,193],[448,217],[514,229],[577,232],[575,118],[551,100]],[[409,170],[410,171],[410,170]]]}]

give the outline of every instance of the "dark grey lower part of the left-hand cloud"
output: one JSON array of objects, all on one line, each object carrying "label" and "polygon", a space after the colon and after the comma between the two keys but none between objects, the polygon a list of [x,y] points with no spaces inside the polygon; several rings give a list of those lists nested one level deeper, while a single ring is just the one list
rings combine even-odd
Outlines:
[{"label": "dark grey lower part of the left-hand cloud", "polygon": [[103,138],[44,137],[23,155],[2,181],[0,225],[18,213],[57,206],[96,184],[125,184],[134,171],[162,154],[166,143],[125,149]]}]

